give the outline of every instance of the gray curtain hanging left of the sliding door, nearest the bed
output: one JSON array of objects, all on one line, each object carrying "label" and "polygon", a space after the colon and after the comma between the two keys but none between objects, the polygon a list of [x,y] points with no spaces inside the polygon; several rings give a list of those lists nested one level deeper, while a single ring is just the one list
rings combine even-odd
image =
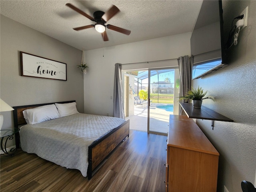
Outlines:
[{"label": "gray curtain hanging left of the sliding door, nearest the bed", "polygon": [[124,119],[124,102],[122,93],[122,64],[115,64],[114,76],[114,117]]}]

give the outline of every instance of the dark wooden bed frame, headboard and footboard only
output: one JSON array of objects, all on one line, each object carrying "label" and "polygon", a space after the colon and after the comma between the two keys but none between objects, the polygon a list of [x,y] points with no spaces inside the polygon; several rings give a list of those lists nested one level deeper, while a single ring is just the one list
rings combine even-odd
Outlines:
[{"label": "dark wooden bed frame, headboard and footboard only", "polygon": [[[66,101],[66,102],[57,102],[57,103],[71,103],[76,101]],[[55,102],[56,103],[56,102]],[[46,104],[36,104],[36,105],[26,105],[26,106],[16,106],[14,108],[14,127],[18,128],[20,125],[26,124],[26,120],[23,117],[22,111],[30,108],[35,108],[38,106],[50,105],[54,103]],[[88,147],[88,170],[87,176],[88,180],[92,178],[92,172],[95,168],[124,140],[124,138],[129,137],[129,124],[130,120],[127,120],[122,125],[118,126],[102,138],[94,141]],[[16,148],[20,148],[20,135],[19,132],[15,134]]]}]

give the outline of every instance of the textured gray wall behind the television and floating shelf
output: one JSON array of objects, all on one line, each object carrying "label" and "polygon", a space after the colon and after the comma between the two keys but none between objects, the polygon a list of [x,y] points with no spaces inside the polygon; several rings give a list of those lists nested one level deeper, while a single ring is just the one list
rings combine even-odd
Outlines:
[{"label": "textured gray wall behind the television and floating shelf", "polygon": [[248,6],[248,26],[239,33],[238,44],[228,50],[228,66],[204,78],[192,80],[216,98],[204,106],[234,122],[197,120],[214,144],[219,158],[218,192],[224,185],[230,192],[241,192],[242,180],[255,181],[256,168],[256,1],[222,1],[224,37],[233,18]]}]

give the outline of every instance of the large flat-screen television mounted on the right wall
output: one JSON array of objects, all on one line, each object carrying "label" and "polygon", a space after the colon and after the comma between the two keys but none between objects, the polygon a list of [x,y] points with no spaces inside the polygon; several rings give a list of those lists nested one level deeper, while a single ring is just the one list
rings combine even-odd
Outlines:
[{"label": "large flat-screen television mounted on the right wall", "polygon": [[222,2],[204,0],[191,38],[192,79],[201,78],[224,68]]}]

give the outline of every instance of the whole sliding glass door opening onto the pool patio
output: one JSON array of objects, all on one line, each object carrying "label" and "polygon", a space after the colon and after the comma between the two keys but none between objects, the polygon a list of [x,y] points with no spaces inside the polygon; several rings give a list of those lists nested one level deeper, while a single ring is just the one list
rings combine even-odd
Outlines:
[{"label": "whole sliding glass door opening onto the pool patio", "polygon": [[[170,114],[178,114],[177,68],[125,71],[124,106],[130,129],[167,134]],[[176,93],[176,95],[175,95]],[[176,105],[176,106],[174,106]]]}]

